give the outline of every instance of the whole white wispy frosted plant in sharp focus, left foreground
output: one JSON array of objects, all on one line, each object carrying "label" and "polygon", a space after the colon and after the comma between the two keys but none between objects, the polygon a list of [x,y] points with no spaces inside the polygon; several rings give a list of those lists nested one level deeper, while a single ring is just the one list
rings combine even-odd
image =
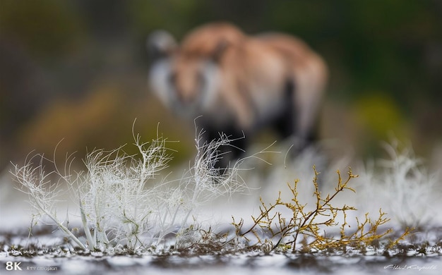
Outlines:
[{"label": "whole white wispy frosted plant in sharp focus, left foreground", "polygon": [[[14,165],[11,171],[20,183],[20,190],[29,195],[35,210],[35,220],[47,216],[73,243],[83,250],[112,250],[125,245],[129,250],[157,247],[166,236],[175,234],[186,239],[194,228],[189,218],[198,206],[215,197],[230,195],[246,189],[239,176],[240,159],[220,175],[216,168],[219,147],[229,145],[229,138],[201,144],[196,138],[196,159],[179,181],[157,181],[160,171],[172,159],[167,140],[159,137],[142,143],[134,136],[139,154],[129,155],[120,147],[111,152],[98,149],[85,158],[86,171],[73,175],[68,157],[64,169],[54,163],[54,171],[44,171],[40,157],[24,166]],[[256,157],[256,156],[252,156]],[[56,182],[49,178],[56,178]],[[157,181],[157,182],[154,182]],[[62,184],[66,183],[66,184]],[[70,188],[80,209],[85,238],[79,238],[59,219],[56,202],[62,188]],[[34,221],[34,219],[33,219]]]}]

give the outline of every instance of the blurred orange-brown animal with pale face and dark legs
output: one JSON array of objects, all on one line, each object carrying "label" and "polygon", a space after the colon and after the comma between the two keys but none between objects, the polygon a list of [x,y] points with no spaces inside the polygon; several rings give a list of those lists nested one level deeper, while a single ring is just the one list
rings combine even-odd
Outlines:
[{"label": "blurred orange-brown animal with pale face and dark legs", "polygon": [[[174,113],[205,130],[203,142],[225,133],[234,147],[267,126],[306,146],[315,128],[327,69],[304,42],[280,33],[245,35],[229,23],[196,28],[177,44],[169,33],[148,38],[150,87]],[[240,138],[245,135],[246,138]],[[222,165],[239,156],[225,157]]]}]

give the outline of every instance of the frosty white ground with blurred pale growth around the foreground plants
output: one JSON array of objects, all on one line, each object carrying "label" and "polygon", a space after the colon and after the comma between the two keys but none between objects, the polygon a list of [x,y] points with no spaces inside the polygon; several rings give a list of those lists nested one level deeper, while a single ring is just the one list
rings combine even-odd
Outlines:
[{"label": "frosty white ground with blurred pale growth around the foreground plants", "polygon": [[[245,190],[198,205],[198,209],[192,209],[192,216],[198,224],[213,231],[233,231],[232,216],[244,219],[246,227],[253,224],[250,216],[259,214],[260,196],[270,203],[281,192],[281,199],[289,201],[291,194],[287,192],[287,183],[295,179],[299,179],[299,197],[303,203],[314,205],[313,165],[321,171],[321,193],[333,192],[337,169],[346,171],[352,166],[352,171],[359,174],[359,178],[352,181],[352,188],[357,192],[336,197],[341,204],[358,209],[347,219],[360,219],[366,212],[376,216],[381,208],[391,219],[385,228],[393,228],[396,236],[407,226],[414,228],[414,233],[389,251],[374,245],[364,250],[347,247],[345,250],[269,252],[260,248],[263,243],[236,252],[179,252],[170,245],[132,253],[76,250],[56,226],[40,223],[33,226],[32,236],[28,238],[31,223],[30,207],[25,202],[28,197],[15,190],[17,183],[13,183],[11,174],[4,173],[1,179],[1,268],[13,271],[20,267],[21,272],[32,274],[121,274],[129,271],[148,274],[176,274],[177,271],[182,274],[440,274],[441,175],[426,169],[410,148],[400,149],[393,144],[386,146],[386,152],[386,159],[372,164],[366,161],[350,165],[345,158],[325,161],[316,149],[306,150],[294,161],[287,161],[284,154],[273,157],[272,166],[252,161],[246,165],[255,166],[255,169],[240,171],[247,186]],[[64,196],[69,201],[71,194]],[[75,205],[61,203],[57,207],[59,216],[73,213],[68,219],[70,230],[80,228],[80,214]],[[342,220],[340,222],[342,224]],[[354,223],[349,222],[349,225],[354,226]],[[337,229],[335,233],[338,232]],[[78,236],[87,244],[84,234],[78,233]],[[174,236],[167,238],[173,242]],[[18,266],[13,265],[18,263]]]}]

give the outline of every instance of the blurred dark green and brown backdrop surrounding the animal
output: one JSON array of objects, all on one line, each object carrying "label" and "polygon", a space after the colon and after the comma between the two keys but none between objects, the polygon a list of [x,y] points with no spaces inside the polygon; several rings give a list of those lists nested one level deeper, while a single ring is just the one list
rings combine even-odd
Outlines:
[{"label": "blurred dark green and brown backdrop surrounding the animal", "polygon": [[323,56],[321,139],[359,157],[389,135],[424,157],[441,148],[442,1],[1,0],[0,172],[32,150],[51,158],[61,140],[61,161],[130,144],[132,128],[145,141],[158,128],[180,141],[174,161],[189,159],[195,130],[148,91],[145,39],[217,20],[297,35]]}]

